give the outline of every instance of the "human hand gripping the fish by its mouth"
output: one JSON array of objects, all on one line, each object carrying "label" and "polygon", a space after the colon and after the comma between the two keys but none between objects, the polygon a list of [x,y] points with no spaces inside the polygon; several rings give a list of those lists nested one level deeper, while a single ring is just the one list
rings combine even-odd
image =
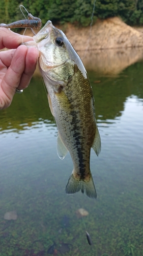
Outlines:
[{"label": "human hand gripping the fish by its mouth", "polygon": [[0,28],[0,109],[7,108],[16,89],[25,89],[33,76],[38,60],[38,50],[20,44],[33,40],[8,29]]}]

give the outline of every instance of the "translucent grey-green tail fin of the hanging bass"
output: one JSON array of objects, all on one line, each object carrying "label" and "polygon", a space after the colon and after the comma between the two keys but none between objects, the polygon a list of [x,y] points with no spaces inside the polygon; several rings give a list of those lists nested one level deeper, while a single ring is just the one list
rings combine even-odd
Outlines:
[{"label": "translucent grey-green tail fin of the hanging bass", "polygon": [[[76,175],[77,176],[77,175]],[[74,170],[69,178],[66,186],[67,194],[74,194],[81,189],[82,194],[84,193],[90,198],[97,198],[96,189],[91,172],[88,175],[88,180],[75,177]]]}]

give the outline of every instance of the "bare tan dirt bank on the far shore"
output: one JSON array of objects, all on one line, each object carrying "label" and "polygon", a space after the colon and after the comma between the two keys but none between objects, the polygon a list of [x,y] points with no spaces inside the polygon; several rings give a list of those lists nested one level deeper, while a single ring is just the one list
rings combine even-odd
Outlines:
[{"label": "bare tan dirt bank on the far shore", "polygon": [[76,51],[143,46],[143,33],[118,17],[97,20],[92,30],[69,25],[66,35]]}]

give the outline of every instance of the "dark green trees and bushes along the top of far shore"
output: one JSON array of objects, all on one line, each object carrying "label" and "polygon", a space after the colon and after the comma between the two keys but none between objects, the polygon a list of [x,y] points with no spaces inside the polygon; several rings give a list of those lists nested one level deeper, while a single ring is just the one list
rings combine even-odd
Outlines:
[{"label": "dark green trees and bushes along the top of far shore", "polygon": [[[40,17],[45,24],[48,19],[53,23],[73,23],[78,26],[89,26],[94,7],[94,0],[1,0],[0,23],[10,23],[23,19],[19,10],[22,4],[32,13]],[[96,0],[93,21],[97,18],[119,16],[129,25],[143,24],[142,0]]]}]

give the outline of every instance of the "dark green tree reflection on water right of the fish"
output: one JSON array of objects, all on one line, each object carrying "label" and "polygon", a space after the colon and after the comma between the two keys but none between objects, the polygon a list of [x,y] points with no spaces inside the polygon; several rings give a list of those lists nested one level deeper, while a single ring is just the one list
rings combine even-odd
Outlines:
[{"label": "dark green tree reflection on water right of the fish", "polygon": [[[136,95],[143,99],[143,62],[135,63],[118,77],[105,77],[89,71],[94,97],[96,118],[114,119],[122,114],[127,97]],[[95,83],[96,80],[101,82]]]}]

